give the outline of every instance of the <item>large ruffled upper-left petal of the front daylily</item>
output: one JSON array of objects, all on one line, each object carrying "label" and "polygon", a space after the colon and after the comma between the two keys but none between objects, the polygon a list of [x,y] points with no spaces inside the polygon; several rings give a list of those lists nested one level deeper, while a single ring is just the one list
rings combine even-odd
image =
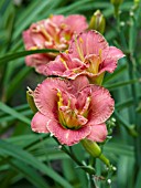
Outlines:
[{"label": "large ruffled upper-left petal of the front daylily", "polygon": [[57,90],[68,91],[70,85],[59,79],[46,79],[34,91],[34,102],[43,115],[54,116],[57,112]]}]

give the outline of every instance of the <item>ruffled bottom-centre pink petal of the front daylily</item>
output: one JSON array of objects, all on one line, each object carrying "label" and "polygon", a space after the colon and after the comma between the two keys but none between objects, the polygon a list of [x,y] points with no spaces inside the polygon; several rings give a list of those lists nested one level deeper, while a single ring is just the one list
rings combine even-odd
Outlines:
[{"label": "ruffled bottom-centre pink petal of the front daylily", "polygon": [[58,122],[50,121],[47,129],[59,140],[62,145],[72,146],[84,139],[91,130],[90,126],[83,126],[77,130],[66,129]]}]

